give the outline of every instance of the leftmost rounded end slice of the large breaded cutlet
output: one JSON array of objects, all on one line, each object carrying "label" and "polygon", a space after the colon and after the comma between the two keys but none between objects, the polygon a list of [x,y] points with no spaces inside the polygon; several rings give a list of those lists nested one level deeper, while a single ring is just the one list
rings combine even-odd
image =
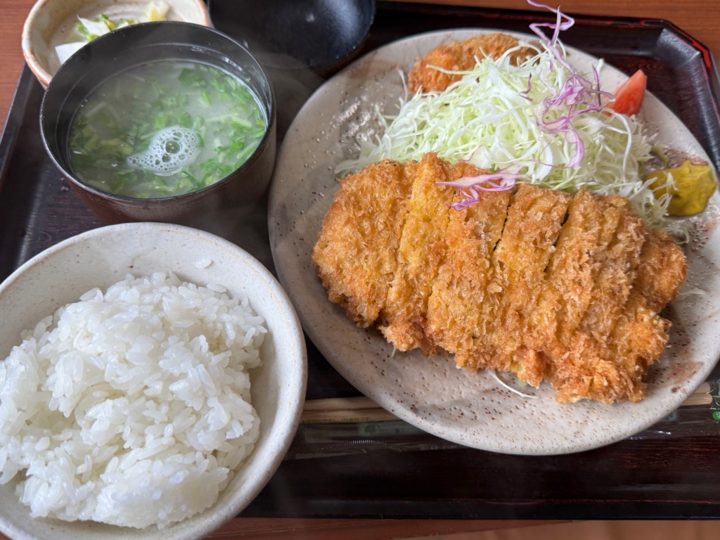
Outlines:
[{"label": "leftmost rounded end slice of the large breaded cutlet", "polygon": [[417,168],[386,160],[341,179],[312,248],[328,298],[361,327],[385,305]]}]

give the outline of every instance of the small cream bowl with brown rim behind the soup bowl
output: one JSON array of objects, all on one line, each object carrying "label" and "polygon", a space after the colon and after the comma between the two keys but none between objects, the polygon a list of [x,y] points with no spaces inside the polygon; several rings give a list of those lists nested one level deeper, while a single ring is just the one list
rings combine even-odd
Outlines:
[{"label": "small cream bowl with brown rim behind the soup bowl", "polygon": [[68,49],[68,42],[89,39],[76,30],[78,17],[92,22],[107,17],[110,26],[151,20],[210,26],[202,0],[37,0],[22,28],[22,54],[43,88],[58,71],[63,53],[74,48]]}]

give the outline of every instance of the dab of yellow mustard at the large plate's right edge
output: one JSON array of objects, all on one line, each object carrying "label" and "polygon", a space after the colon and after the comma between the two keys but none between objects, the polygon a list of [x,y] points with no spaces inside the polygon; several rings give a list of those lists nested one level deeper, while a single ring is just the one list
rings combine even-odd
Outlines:
[{"label": "dab of yellow mustard at the large plate's right edge", "polygon": [[[667,176],[672,176],[672,182]],[[696,215],[705,210],[715,193],[717,180],[710,166],[690,161],[675,168],[663,168],[648,176],[656,198],[670,193],[667,212],[670,215]]]}]

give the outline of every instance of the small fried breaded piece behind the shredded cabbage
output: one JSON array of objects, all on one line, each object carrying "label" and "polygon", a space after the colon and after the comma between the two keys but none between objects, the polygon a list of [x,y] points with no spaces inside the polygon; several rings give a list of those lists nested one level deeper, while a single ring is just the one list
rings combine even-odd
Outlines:
[{"label": "small fried breaded piece behind the shredded cabbage", "polygon": [[462,77],[457,73],[446,72],[470,71],[477,63],[476,58],[497,60],[508,50],[516,49],[509,56],[510,62],[518,65],[536,54],[536,50],[519,45],[516,37],[501,32],[440,45],[415,62],[408,74],[410,91],[413,94],[419,89],[423,89],[423,92],[443,91]]}]

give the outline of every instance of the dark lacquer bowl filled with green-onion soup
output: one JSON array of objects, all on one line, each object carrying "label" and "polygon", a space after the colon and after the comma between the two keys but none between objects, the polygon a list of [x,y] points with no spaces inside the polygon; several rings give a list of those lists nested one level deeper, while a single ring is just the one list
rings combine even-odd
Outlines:
[{"label": "dark lacquer bowl filled with green-onion soup", "polygon": [[253,55],[208,27],[123,27],[71,56],[40,109],[42,140],[102,220],[202,226],[258,207],[276,102]]}]

